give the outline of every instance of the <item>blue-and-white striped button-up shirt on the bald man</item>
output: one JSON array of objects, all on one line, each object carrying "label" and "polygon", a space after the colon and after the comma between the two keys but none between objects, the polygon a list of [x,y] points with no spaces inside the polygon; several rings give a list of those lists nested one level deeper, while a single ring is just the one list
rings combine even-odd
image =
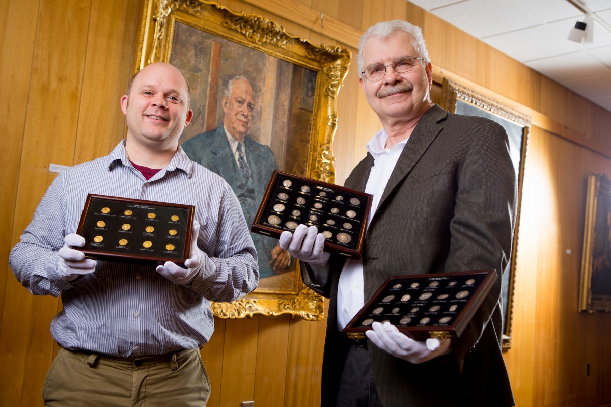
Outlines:
[{"label": "blue-and-white striped button-up shirt on the bald man", "polygon": [[[63,309],[51,323],[62,347],[122,357],[199,347],[214,331],[210,300],[233,301],[258,283],[257,254],[240,202],[221,177],[193,163],[180,147],[147,181],[124,144],[57,176],[13,248],[10,267],[32,294],[62,296]],[[98,260],[94,273],[65,281],[57,251],[65,235],[76,232],[88,193],[194,205],[204,270],[184,286],[158,274],[156,265]]]}]

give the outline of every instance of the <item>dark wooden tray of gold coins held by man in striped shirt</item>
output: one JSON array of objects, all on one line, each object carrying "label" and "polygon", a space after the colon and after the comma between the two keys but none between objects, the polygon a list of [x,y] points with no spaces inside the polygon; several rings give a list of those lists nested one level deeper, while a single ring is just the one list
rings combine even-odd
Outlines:
[{"label": "dark wooden tray of gold coins held by man in striped shirt", "polygon": [[88,257],[184,265],[191,249],[194,207],[88,194],[76,233]]}]

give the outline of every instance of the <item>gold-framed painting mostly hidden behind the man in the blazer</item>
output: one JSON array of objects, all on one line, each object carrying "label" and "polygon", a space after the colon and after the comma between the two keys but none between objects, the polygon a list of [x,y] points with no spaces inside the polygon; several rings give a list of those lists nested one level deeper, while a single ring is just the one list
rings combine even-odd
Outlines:
[{"label": "gold-framed painting mostly hidden behind the man in the blazer", "polygon": [[522,183],[524,183],[524,163],[528,144],[530,117],[495,100],[491,95],[483,95],[454,81],[444,79],[442,86],[442,107],[447,111],[471,116],[487,117],[505,128],[509,137],[511,161],[518,175],[518,205],[516,227],[513,232],[513,251],[511,261],[503,271],[501,293],[503,297],[503,349],[511,347],[511,311],[513,309],[513,285],[516,276],[516,254],[518,247],[518,226],[522,202]]}]

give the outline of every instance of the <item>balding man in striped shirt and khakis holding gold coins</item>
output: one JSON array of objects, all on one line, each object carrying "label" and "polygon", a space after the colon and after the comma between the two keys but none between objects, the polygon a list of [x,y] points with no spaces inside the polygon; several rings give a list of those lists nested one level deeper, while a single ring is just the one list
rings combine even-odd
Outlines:
[{"label": "balding man in striped shirt and khakis holding gold coins", "polygon": [[[257,287],[257,254],[232,188],[178,145],[192,118],[180,71],[151,64],[121,98],[128,133],[110,155],[58,175],[9,263],[34,295],[62,297],[51,323],[60,350],[47,406],[202,406],[200,358],[214,331],[210,301]],[[181,267],[86,259],[76,235],[88,193],[194,205],[191,254]]]}]

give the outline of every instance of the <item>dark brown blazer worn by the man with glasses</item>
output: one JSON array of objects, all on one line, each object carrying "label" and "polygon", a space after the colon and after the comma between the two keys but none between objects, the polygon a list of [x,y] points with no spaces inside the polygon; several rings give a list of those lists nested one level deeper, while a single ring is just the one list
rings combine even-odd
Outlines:
[{"label": "dark brown blazer worn by the man with glasses", "polygon": [[[345,186],[363,191],[373,166],[367,154]],[[362,257],[365,301],[400,274],[494,269],[499,278],[452,353],[414,365],[368,343],[385,407],[513,406],[501,353],[500,274],[510,259],[516,175],[507,134],[492,120],[433,106],[420,119],[390,176],[367,230]],[[331,257],[331,298],[323,361],[323,406],[335,406],[337,284],[343,259]]]}]

